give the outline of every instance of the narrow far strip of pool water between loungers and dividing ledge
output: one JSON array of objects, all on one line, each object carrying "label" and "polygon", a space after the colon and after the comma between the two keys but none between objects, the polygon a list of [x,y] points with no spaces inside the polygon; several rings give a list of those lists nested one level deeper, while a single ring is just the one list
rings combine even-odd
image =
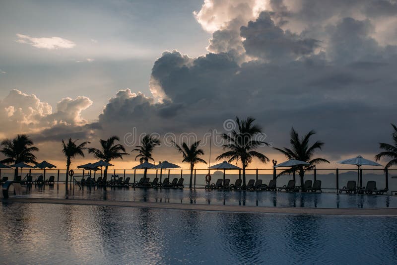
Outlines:
[{"label": "narrow far strip of pool water between loungers and dividing ledge", "polygon": [[[73,187],[73,186],[72,186]],[[204,189],[91,188],[65,185],[24,188],[23,197],[58,199],[105,199],[164,203],[195,203],[267,207],[380,208],[397,207],[396,196],[334,193],[286,193]]]}]

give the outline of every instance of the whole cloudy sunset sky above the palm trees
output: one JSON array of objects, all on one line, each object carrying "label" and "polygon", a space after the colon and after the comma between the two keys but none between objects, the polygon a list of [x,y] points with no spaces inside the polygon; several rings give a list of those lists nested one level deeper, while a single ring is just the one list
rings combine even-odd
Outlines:
[{"label": "whole cloudy sunset sky above the palm trees", "polygon": [[62,139],[118,135],[131,151],[141,133],[164,141],[156,163],[183,165],[169,135],[204,139],[236,116],[274,147],[314,129],[336,167],[373,159],[396,123],[396,0],[15,0],[0,24],[0,137],[28,133],[61,167]]}]

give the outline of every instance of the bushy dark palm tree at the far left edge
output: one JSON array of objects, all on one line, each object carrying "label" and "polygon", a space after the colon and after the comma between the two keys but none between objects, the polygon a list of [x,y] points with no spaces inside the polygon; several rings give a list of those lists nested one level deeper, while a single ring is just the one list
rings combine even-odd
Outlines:
[{"label": "bushy dark palm tree at the far left edge", "polygon": [[[4,139],[1,141],[3,149],[0,152],[7,158],[1,160],[5,164],[33,163],[37,164],[36,156],[33,154],[39,151],[39,148],[33,146],[33,141],[26,134],[17,134],[13,139]],[[14,171],[14,180],[18,176],[18,168]]]}]

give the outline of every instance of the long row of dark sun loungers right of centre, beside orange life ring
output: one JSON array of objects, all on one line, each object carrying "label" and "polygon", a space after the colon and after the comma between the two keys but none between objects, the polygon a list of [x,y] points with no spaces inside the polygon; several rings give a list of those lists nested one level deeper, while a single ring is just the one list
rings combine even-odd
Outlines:
[{"label": "long row of dark sun loungers right of centre, beside orange life ring", "polygon": [[[225,182],[223,183],[223,179],[218,179],[216,183],[210,184],[205,186],[205,189],[223,189],[223,190],[248,190],[248,191],[276,191],[276,180],[270,180],[269,184],[262,184],[262,180],[249,180],[247,185],[244,186],[242,185],[241,179],[236,180],[234,184],[230,184],[230,179],[225,179]],[[313,183],[312,186],[312,181],[307,180],[305,182],[305,185],[303,188],[295,186],[295,182],[293,180],[290,180],[287,185],[284,185],[281,188],[278,188],[278,191],[285,190],[287,192],[298,192],[298,191],[303,191],[303,192],[322,192],[321,191],[321,181],[316,180]]]}]

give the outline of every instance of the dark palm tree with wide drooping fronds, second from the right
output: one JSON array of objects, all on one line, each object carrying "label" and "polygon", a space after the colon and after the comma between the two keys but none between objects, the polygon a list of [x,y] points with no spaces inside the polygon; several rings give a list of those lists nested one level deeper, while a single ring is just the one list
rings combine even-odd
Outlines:
[{"label": "dark palm tree with wide drooping fronds, second from the right", "polygon": [[284,170],[283,172],[278,174],[278,175],[291,174],[294,171],[297,171],[301,179],[301,187],[303,187],[303,177],[305,176],[306,170],[313,170],[315,166],[319,163],[330,163],[330,161],[324,158],[312,159],[314,152],[317,149],[321,150],[321,147],[324,145],[324,142],[316,141],[312,146],[309,147],[310,136],[312,136],[313,134],[316,134],[316,132],[312,130],[309,133],[307,133],[302,139],[300,139],[299,134],[294,130],[294,128],[292,128],[290,134],[291,149],[286,147],[284,147],[283,149],[275,148],[275,147],[273,148],[274,150],[280,151],[288,159],[296,159],[311,164],[310,166],[292,167],[291,169]]}]

